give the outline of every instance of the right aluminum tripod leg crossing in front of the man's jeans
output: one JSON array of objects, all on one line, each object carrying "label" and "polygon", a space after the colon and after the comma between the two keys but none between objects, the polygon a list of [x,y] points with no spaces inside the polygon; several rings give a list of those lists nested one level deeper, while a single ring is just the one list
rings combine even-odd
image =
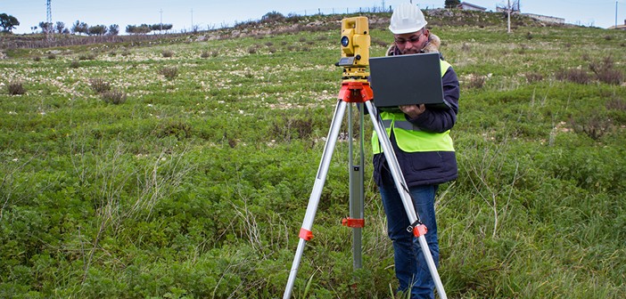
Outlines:
[{"label": "right aluminum tripod leg crossing in front of the man's jeans", "polygon": [[[369,112],[369,116],[372,118],[372,124],[374,125],[374,129],[376,134],[378,135],[378,141],[380,141],[381,146],[383,147],[384,157],[387,159],[387,164],[391,170],[391,176],[393,177],[393,182],[396,183],[396,189],[399,192],[400,198],[402,198],[402,204],[404,205],[405,211],[407,211],[408,222],[415,223],[418,218],[416,214],[415,207],[413,206],[413,200],[411,199],[410,194],[408,193],[407,182],[404,180],[404,175],[402,175],[402,171],[400,170],[398,159],[396,158],[395,153],[393,152],[393,148],[391,147],[391,141],[389,141],[389,137],[387,137],[387,132],[384,129],[383,123],[378,117],[376,110],[373,107],[371,101],[365,102],[367,111]],[[439,272],[437,271],[437,266],[432,260],[431,251],[428,247],[428,243],[426,242],[426,238],[424,234],[418,237],[419,245],[422,247],[422,253],[426,258],[426,263],[428,264],[428,270],[431,271],[432,280],[434,280],[435,287],[437,288],[437,292],[442,299],[447,299],[446,291],[443,289],[443,284],[441,284],[441,279],[439,277]]]}]

